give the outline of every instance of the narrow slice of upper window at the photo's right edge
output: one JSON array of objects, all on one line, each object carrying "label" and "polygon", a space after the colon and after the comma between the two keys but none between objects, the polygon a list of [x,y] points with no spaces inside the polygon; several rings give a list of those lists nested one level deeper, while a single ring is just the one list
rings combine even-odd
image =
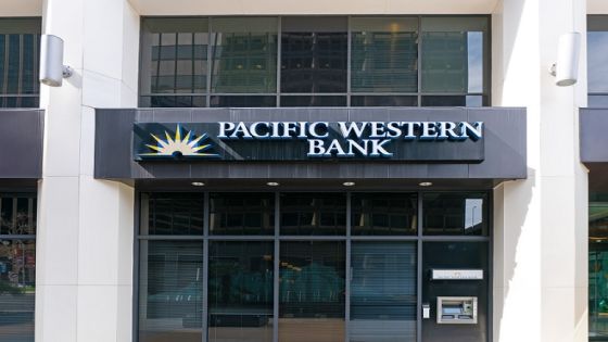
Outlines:
[{"label": "narrow slice of upper window at the photo's right edge", "polygon": [[587,91],[590,107],[608,107],[608,16],[587,18]]}]

